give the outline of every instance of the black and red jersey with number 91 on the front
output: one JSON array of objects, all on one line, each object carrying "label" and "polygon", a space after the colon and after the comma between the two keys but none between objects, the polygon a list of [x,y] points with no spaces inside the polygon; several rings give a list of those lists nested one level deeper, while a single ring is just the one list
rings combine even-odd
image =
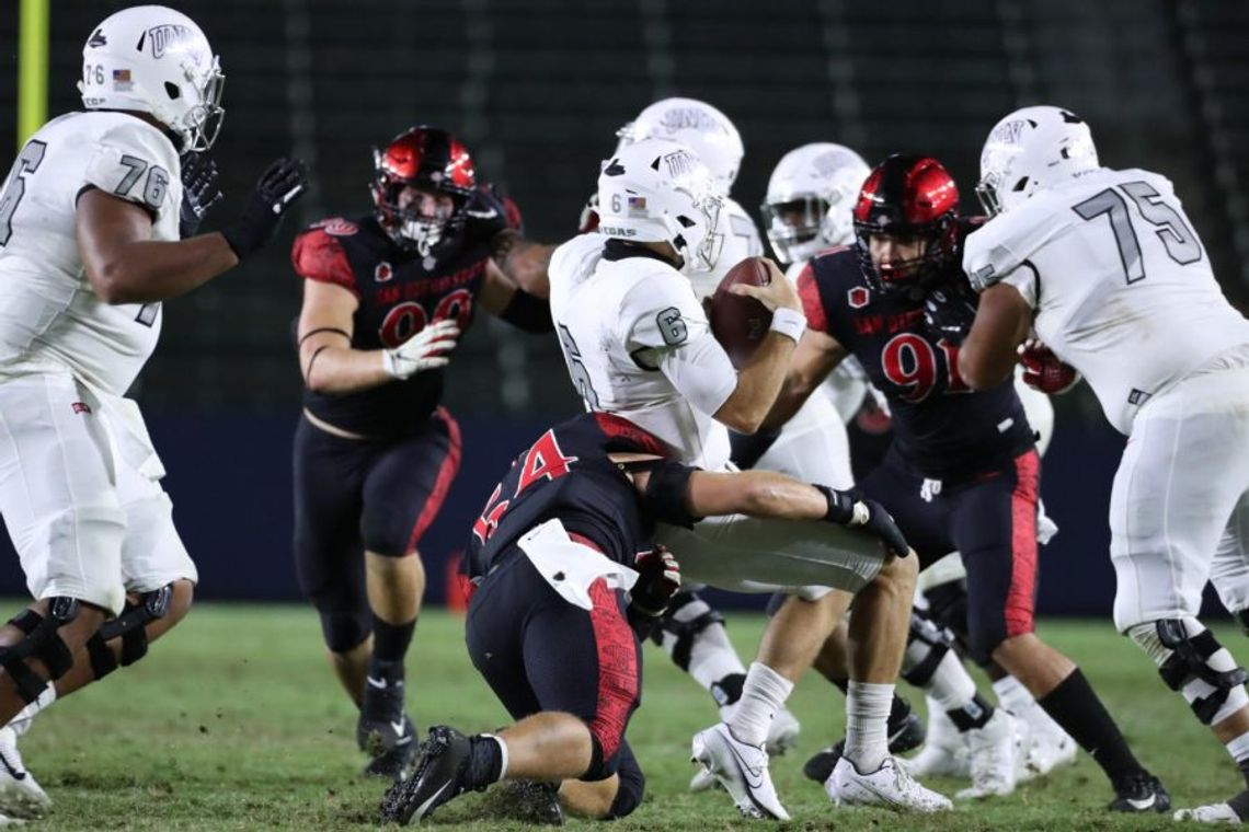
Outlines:
[{"label": "black and red jersey with number 91 on the front", "polygon": [[807,326],[836,338],[888,398],[894,448],[916,473],[974,476],[1033,445],[1013,382],[968,388],[958,375],[958,347],[924,326],[923,301],[873,291],[856,247],[813,258],[798,294]]}]

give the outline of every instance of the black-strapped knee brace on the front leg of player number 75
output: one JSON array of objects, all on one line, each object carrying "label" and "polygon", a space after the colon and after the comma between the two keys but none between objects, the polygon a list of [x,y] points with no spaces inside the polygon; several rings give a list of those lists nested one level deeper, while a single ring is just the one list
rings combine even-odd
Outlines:
[{"label": "black-strapped knee brace on the front leg of player number 75", "polygon": [[1158,675],[1188,701],[1204,725],[1222,722],[1245,705],[1245,671],[1194,617],[1138,624],[1128,635],[1158,665]]}]

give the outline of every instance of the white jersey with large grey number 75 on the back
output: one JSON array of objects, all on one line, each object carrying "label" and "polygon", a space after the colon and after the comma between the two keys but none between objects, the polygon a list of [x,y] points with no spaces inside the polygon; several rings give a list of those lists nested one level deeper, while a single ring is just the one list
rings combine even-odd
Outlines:
[{"label": "white jersey with large grey number 75 on the back", "polygon": [[1037,336],[1124,434],[1150,397],[1249,344],[1170,181],[1148,171],[1100,168],[1042,191],[968,236],[963,268],[1019,291]]}]

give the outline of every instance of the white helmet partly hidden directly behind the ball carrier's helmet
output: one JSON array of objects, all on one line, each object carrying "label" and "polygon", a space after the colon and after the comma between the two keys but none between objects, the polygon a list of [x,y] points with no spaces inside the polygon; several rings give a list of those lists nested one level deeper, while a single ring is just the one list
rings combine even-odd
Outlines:
[{"label": "white helmet partly hidden directly behind the ball carrier's helmet", "polygon": [[711,171],[716,193],[728,196],[742,167],[742,136],[723,112],[697,99],[663,99],[616,131],[621,143],[668,138],[686,145]]}]

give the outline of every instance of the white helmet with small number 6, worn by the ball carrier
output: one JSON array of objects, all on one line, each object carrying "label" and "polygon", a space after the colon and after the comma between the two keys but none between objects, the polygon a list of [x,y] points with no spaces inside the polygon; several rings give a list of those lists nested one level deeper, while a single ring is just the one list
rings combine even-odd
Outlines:
[{"label": "white helmet with small number 6, worn by the ball carrier", "polygon": [[724,244],[716,231],[722,205],[707,166],[674,141],[636,141],[598,175],[600,233],[627,242],[666,242],[681,256],[687,274],[716,268]]}]

